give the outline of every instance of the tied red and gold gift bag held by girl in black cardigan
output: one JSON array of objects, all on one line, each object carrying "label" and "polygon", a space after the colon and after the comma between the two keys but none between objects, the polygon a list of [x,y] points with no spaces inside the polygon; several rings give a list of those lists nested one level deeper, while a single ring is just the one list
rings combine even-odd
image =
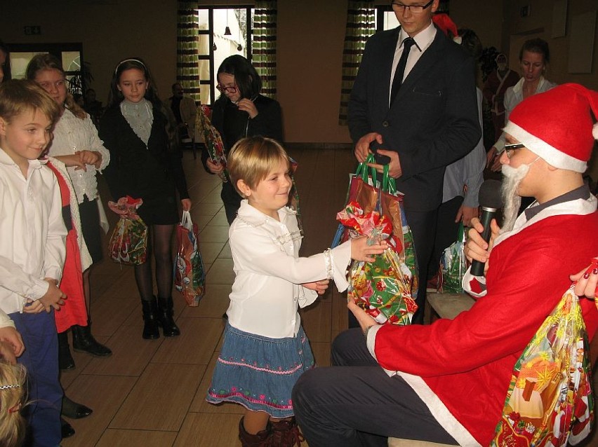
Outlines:
[{"label": "tied red and gold gift bag held by girl in black cardigan", "polygon": [[147,225],[137,214],[137,209],[143,204],[141,199],[129,196],[118,202],[108,202],[108,207],[118,212],[126,210],[121,215],[117,226],[112,232],[108,243],[108,254],[114,262],[139,265],[145,263],[147,256]]}]

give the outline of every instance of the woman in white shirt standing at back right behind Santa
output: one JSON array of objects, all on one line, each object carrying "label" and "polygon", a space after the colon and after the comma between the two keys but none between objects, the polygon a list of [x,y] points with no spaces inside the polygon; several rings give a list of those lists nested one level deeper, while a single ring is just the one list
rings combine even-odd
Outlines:
[{"label": "woman in white shirt standing at back right behind Santa", "polygon": [[[550,62],[548,43],[542,39],[525,41],[519,50],[519,65],[523,76],[519,82],[505,92],[505,123],[509,121],[511,111],[519,102],[536,93],[543,93],[557,84],[548,81],[545,77],[546,66]],[[487,157],[487,167],[500,171],[499,154],[505,147],[505,134],[500,135],[498,141],[490,148]]]}]

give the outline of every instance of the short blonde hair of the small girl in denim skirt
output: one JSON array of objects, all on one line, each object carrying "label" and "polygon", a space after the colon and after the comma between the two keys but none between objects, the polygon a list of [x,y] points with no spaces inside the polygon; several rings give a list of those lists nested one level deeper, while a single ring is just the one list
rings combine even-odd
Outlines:
[{"label": "short blonde hair of the small girl in denim skirt", "polygon": [[266,137],[248,137],[239,139],[232,146],[227,158],[227,170],[234,188],[237,182],[243,180],[249,188],[255,190],[260,181],[265,179],[280,162],[291,169],[291,162],[283,147],[274,139]]}]

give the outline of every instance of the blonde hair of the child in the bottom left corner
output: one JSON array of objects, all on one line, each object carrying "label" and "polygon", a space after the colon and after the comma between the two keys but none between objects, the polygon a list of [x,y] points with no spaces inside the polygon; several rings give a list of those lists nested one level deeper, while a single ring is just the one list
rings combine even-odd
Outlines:
[{"label": "blonde hair of the child in the bottom left corner", "polygon": [[0,360],[0,446],[18,447],[25,438],[25,419],[20,413],[25,400],[25,368]]}]

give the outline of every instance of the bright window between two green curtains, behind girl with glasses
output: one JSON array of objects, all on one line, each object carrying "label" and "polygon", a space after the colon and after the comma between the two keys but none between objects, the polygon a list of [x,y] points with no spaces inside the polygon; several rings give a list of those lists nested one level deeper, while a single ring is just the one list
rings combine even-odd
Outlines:
[{"label": "bright window between two green curtains, behind girl with glasses", "polygon": [[230,55],[251,60],[253,13],[251,6],[214,6],[197,10],[201,104],[214,103],[218,82],[216,71],[223,60]]}]

